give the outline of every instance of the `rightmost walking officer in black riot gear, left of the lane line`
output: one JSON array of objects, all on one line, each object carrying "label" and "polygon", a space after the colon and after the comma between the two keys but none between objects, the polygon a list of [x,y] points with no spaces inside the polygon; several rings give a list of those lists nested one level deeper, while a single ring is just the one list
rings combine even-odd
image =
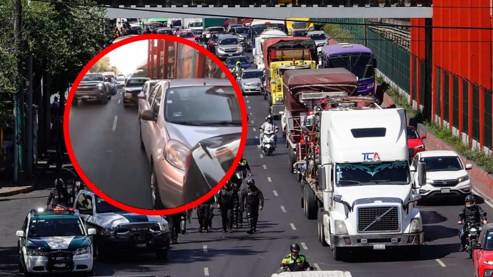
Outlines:
[{"label": "rightmost walking officer in black riot gear, left of the lane line", "polygon": [[[248,231],[253,234],[257,231],[258,211],[263,209],[263,194],[255,186],[255,180],[247,179],[247,188],[241,191],[241,199],[244,201],[247,212]],[[242,203],[243,205],[243,203]]]}]

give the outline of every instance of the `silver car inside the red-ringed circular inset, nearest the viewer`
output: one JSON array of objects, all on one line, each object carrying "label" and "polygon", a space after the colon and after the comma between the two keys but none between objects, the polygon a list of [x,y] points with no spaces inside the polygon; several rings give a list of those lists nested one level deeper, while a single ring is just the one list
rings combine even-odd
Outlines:
[{"label": "silver car inside the red-ringed circular inset, nearest the viewer", "polygon": [[[186,204],[183,182],[191,149],[220,135],[237,133],[240,139],[241,110],[234,88],[226,79],[165,80],[139,98],[145,100],[140,140],[150,162],[154,208]],[[236,155],[237,149],[232,152]]]}]

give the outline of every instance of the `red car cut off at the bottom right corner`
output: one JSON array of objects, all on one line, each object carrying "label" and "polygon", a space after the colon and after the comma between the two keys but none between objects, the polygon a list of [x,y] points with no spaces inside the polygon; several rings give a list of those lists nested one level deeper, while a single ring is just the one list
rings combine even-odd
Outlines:
[{"label": "red car cut off at the bottom right corner", "polygon": [[475,277],[493,276],[493,224],[483,226],[478,244],[473,245],[472,264]]}]

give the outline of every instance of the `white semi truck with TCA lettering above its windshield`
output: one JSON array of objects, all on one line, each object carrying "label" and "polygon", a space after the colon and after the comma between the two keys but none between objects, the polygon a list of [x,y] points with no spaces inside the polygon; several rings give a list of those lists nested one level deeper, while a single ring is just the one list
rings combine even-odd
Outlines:
[{"label": "white semi truck with TCA lettering above its windshield", "polygon": [[[426,166],[409,166],[405,111],[361,101],[334,96],[315,109],[302,207],[318,219],[318,239],[336,261],[357,247],[407,247],[419,256],[423,228],[413,188],[426,183]],[[414,170],[420,184],[413,184]]]}]

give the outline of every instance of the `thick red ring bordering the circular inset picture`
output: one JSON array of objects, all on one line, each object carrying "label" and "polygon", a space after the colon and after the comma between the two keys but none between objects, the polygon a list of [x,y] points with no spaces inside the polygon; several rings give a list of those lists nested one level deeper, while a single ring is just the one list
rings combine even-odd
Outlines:
[{"label": "thick red ring bordering the circular inset picture", "polygon": [[[73,95],[75,94],[75,90],[77,90],[77,87],[79,87],[79,83],[81,82],[82,78],[84,75],[89,71],[89,69],[96,64],[102,57],[104,57],[106,54],[111,52],[112,50],[115,50],[116,48],[132,43],[132,42],[138,42],[138,41],[144,41],[148,39],[164,39],[168,41],[174,41],[177,43],[182,43],[184,45],[187,45],[189,47],[192,47],[196,50],[198,50],[201,54],[204,54],[208,58],[210,58],[214,63],[216,63],[219,68],[226,74],[227,78],[230,80],[231,84],[233,85],[233,88],[235,89],[236,96],[238,97],[238,102],[240,104],[240,109],[242,113],[242,125],[241,125],[241,139],[240,139],[240,146],[238,148],[238,153],[236,154],[236,157],[233,161],[233,164],[231,168],[226,172],[224,177],[221,179],[221,181],[209,192],[207,192],[205,195],[202,195],[199,199],[188,203],[184,204],[182,206],[178,206],[175,208],[170,208],[170,209],[163,209],[163,210],[147,210],[147,209],[141,209],[141,208],[136,208],[132,206],[125,205],[117,200],[112,199],[110,196],[106,195],[104,192],[102,192],[100,189],[94,185],[87,175],[84,173],[82,168],[80,167],[79,163],[77,162],[77,159],[75,159],[75,155],[72,150],[72,145],[70,144],[70,132],[69,132],[69,116],[70,116],[70,108],[72,106],[72,100],[73,100]],[[65,111],[64,111],[64,122],[63,122],[63,132],[64,132],[64,137],[65,137],[65,145],[67,148],[68,155],[70,157],[70,160],[73,164],[73,167],[75,171],[80,175],[82,181],[98,196],[100,196],[102,199],[104,199],[106,202],[109,204],[116,206],[120,209],[129,211],[129,212],[134,212],[134,213],[140,213],[140,214],[146,214],[146,215],[167,215],[167,214],[174,214],[178,212],[182,212],[191,208],[194,208],[198,206],[199,204],[205,202],[207,199],[210,199],[214,194],[216,194],[231,178],[233,175],[236,166],[241,160],[241,156],[243,155],[243,150],[246,144],[247,140],[247,128],[248,128],[248,122],[247,122],[247,107],[245,106],[245,102],[243,100],[243,96],[240,90],[240,87],[236,83],[235,78],[227,69],[226,65],[224,65],[218,57],[216,57],[213,53],[205,49],[204,47],[199,46],[198,44],[188,41],[185,38],[179,37],[179,36],[174,36],[174,35],[165,35],[165,34],[145,34],[145,35],[137,35],[137,36],[132,36],[129,38],[122,39],[122,41],[117,42],[115,44],[112,44],[108,46],[107,48],[103,49],[101,52],[99,52],[96,56],[94,56],[89,63],[86,64],[86,66],[82,69],[82,71],[79,73],[77,78],[75,78],[75,81],[73,82],[72,88],[70,89],[70,92],[67,96],[67,101]]]}]

